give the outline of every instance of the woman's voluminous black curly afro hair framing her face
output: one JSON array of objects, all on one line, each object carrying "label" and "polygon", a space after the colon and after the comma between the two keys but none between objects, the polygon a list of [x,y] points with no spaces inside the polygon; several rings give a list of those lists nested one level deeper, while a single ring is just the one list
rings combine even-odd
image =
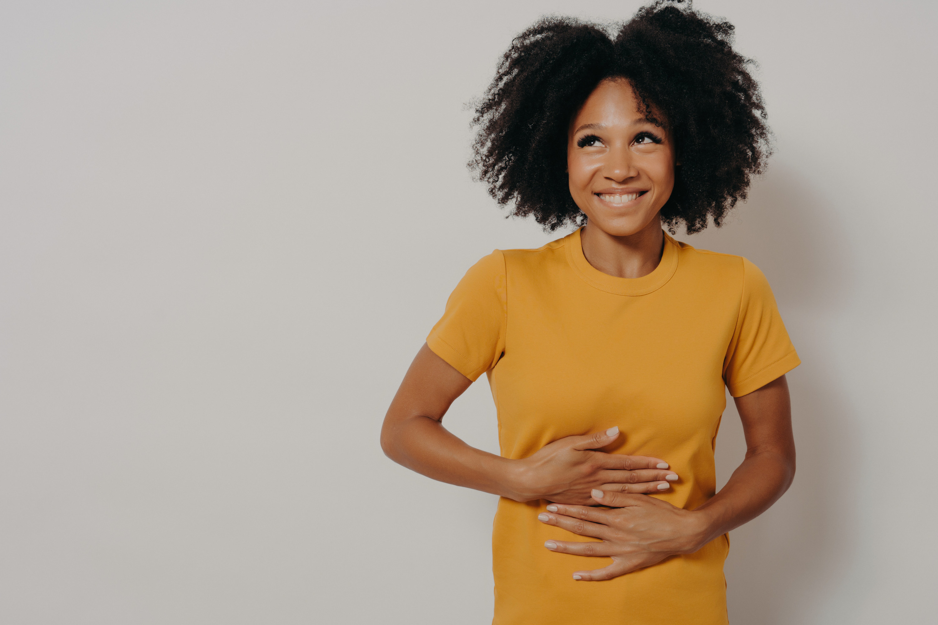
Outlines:
[{"label": "woman's voluminous black curly afro hair framing her face", "polygon": [[[545,231],[582,225],[570,196],[567,131],[599,82],[624,78],[645,118],[666,126],[681,162],[661,221],[675,234],[720,226],[764,171],[770,131],[750,59],[732,48],[734,26],[683,0],[658,0],[611,38],[595,24],[548,17],[511,43],[476,106],[471,170],[510,216],[534,216]],[[656,118],[656,114],[663,119]]]}]

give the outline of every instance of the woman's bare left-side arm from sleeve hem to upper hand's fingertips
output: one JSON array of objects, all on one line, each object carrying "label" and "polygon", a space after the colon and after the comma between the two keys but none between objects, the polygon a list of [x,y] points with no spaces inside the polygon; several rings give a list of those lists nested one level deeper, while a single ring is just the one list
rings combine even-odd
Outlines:
[{"label": "woman's bare left-side arm from sleeve hem to upper hand's fingertips", "polygon": [[[660,492],[677,475],[660,458],[594,451],[613,443],[617,427],[552,442],[513,460],[471,447],[446,430],[443,417],[472,381],[426,344],[387,410],[381,447],[395,462],[434,480],[475,488],[516,501],[550,499],[596,504],[597,487],[616,492]],[[668,476],[671,476],[669,479]]]}]

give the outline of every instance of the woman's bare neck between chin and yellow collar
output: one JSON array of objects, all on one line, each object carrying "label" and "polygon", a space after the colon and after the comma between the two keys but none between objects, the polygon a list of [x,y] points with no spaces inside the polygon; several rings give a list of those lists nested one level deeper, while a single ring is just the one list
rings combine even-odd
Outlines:
[{"label": "woman's bare neck between chin and yellow collar", "polygon": [[664,251],[664,231],[658,218],[641,231],[615,236],[587,222],[580,231],[583,256],[603,274],[642,277],[655,271]]}]

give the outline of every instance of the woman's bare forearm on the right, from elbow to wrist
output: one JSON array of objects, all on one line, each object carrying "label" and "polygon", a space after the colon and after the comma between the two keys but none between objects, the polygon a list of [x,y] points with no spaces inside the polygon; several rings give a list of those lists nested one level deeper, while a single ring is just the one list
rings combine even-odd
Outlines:
[{"label": "woman's bare forearm on the right, from elbow to wrist", "polygon": [[794,457],[778,451],[747,454],[719,493],[697,508],[701,545],[751,521],[775,503],[794,480]]}]

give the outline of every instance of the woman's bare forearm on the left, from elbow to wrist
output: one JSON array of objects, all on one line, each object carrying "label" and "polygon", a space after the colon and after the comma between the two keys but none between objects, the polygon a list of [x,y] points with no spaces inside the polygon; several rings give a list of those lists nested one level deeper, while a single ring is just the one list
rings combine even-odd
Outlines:
[{"label": "woman's bare forearm on the left, from elbow to wrist", "polygon": [[431,417],[386,424],[381,444],[387,457],[434,480],[516,501],[531,499],[519,492],[518,461],[467,445]]}]

